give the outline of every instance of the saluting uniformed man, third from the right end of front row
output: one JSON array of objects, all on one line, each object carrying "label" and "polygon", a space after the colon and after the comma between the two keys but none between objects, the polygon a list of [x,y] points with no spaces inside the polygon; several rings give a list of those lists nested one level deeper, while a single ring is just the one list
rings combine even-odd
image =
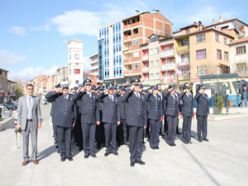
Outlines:
[{"label": "saluting uniformed man, third from the right end of front row", "polygon": [[168,144],[176,146],[176,128],[179,114],[179,96],[175,90],[175,86],[169,85],[168,94],[166,95],[166,120],[168,124]]}]

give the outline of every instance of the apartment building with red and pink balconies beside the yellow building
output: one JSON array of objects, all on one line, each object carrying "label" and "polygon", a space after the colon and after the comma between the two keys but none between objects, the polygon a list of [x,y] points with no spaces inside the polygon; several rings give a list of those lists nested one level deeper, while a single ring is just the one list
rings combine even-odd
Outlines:
[{"label": "apartment building with red and pink balconies beside the yellow building", "polygon": [[141,72],[144,84],[175,84],[177,82],[174,40],[153,34],[141,45]]}]

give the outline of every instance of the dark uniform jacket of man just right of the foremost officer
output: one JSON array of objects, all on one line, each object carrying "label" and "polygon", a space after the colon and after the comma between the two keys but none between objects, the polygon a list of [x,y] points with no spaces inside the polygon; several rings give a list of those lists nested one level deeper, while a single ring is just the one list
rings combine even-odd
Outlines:
[{"label": "dark uniform jacket of man just right of the foremost officer", "polygon": [[161,96],[157,95],[155,97],[153,94],[148,93],[145,98],[147,101],[148,119],[160,120],[161,116],[163,116]]}]

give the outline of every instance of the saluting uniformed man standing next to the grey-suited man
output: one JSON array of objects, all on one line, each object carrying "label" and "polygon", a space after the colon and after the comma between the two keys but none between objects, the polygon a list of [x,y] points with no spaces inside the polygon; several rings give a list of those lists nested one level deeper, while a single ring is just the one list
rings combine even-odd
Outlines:
[{"label": "saluting uniformed man standing next to the grey-suited man", "polygon": [[71,134],[77,116],[76,104],[73,96],[69,94],[69,84],[61,84],[62,93],[59,91],[49,92],[46,97],[48,100],[56,102],[56,125],[57,141],[61,155],[61,161],[68,159],[72,161],[71,155]]}]

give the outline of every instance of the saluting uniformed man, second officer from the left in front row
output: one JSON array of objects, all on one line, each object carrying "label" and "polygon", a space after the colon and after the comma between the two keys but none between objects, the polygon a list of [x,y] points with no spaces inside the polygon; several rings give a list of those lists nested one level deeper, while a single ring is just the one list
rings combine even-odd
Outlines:
[{"label": "saluting uniformed man, second officer from the left in front row", "polygon": [[74,96],[74,100],[81,100],[81,124],[83,130],[84,157],[88,158],[95,154],[96,124],[100,124],[100,116],[97,104],[97,96],[91,92],[91,80],[84,81],[84,87]]}]

